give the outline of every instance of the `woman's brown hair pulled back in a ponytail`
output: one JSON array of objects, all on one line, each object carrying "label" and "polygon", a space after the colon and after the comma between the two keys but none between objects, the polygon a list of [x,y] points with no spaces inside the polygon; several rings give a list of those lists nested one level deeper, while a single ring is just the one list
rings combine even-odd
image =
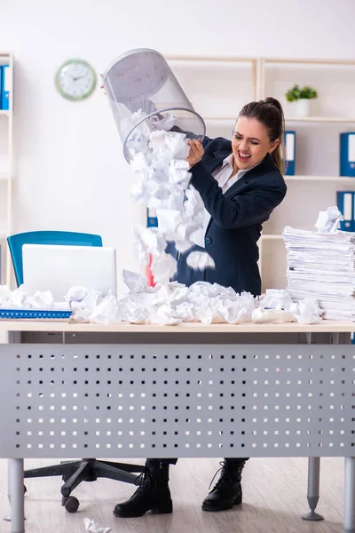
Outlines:
[{"label": "woman's brown hair pulled back in a ponytail", "polygon": [[272,152],[272,160],[281,173],[284,171],[284,131],[285,117],[279,100],[268,96],[258,102],[250,102],[241,109],[239,116],[256,118],[259,123],[264,124],[270,140],[273,142],[280,139],[278,147]]}]

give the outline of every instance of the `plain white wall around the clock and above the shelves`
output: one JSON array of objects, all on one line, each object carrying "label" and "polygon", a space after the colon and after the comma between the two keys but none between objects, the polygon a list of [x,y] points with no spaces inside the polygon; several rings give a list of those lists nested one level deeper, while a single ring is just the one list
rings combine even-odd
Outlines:
[{"label": "plain white wall around the clock and above the shelves", "polygon": [[15,55],[13,232],[99,233],[119,270],[138,269],[130,169],[105,96],[73,103],[53,76],[68,58],[97,72],[120,53],[353,59],[353,0],[14,0],[2,6],[0,50]]}]

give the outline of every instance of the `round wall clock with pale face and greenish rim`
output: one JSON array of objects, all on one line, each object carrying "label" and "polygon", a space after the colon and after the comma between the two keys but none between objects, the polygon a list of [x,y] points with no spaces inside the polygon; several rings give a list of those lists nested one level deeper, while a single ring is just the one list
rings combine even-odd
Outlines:
[{"label": "round wall clock with pale face and greenish rim", "polygon": [[67,60],[57,70],[54,81],[61,96],[77,101],[91,95],[96,85],[96,74],[86,61]]}]

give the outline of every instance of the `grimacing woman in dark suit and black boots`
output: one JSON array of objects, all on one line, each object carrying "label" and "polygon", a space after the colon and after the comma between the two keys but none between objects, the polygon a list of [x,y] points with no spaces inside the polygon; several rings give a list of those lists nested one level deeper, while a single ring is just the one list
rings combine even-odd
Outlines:
[{"label": "grimacing woman in dark suit and black boots", "polygon": [[[208,139],[189,141],[191,184],[205,205],[205,224],[194,235],[193,249],[177,258],[178,282],[217,282],[260,295],[257,241],[262,224],[286,195],[282,178],[284,117],[280,102],[266,98],[241,109],[232,143]],[[216,268],[195,271],[186,258],[208,251]],[[177,257],[173,243],[170,252]],[[247,458],[226,458],[219,480],[202,503],[204,511],[224,511],[241,504],[241,471]],[[120,517],[147,511],[171,513],[169,465],[177,459],[147,459],[143,480],[130,499],[114,508]]]}]

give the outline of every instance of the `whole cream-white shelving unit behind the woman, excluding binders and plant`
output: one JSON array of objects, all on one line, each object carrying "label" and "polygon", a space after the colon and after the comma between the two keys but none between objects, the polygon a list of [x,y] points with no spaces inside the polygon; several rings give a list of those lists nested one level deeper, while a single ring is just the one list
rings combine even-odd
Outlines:
[{"label": "whole cream-white shelving unit behind the woman, excluding binders and plant", "polygon": [[[285,176],[288,195],[264,224],[259,240],[263,291],[284,288],[285,226],[314,229],[319,211],[336,204],[337,190],[353,190],[355,179],[338,176],[339,133],[355,131],[355,60],[233,57],[167,57],[177,80],[204,118],[209,137],[231,139],[241,107],[273,96],[296,131],[296,172]],[[296,116],[285,98],[294,84],[312,85],[319,98],[312,116]]]}]

